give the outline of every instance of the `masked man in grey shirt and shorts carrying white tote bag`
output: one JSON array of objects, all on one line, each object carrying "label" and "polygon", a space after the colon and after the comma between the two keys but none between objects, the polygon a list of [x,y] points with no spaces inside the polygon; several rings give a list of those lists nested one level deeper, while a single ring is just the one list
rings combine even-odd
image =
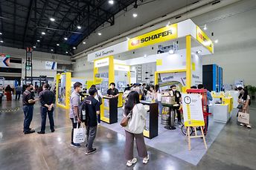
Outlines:
[{"label": "masked man in grey shirt and shorts carrying white tote bag", "polygon": [[78,105],[80,104],[80,92],[82,91],[82,84],[80,82],[75,82],[73,85],[74,91],[70,97],[70,113],[69,117],[72,122],[72,132],[71,132],[71,146],[80,147],[79,143],[73,142],[74,128],[80,128],[80,117],[78,112]]}]

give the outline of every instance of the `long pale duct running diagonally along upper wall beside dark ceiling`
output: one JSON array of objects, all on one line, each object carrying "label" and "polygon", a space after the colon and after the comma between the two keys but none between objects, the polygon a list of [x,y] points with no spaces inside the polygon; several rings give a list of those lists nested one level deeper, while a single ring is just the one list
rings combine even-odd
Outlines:
[{"label": "long pale duct running diagonally along upper wall beside dark ceiling", "polygon": [[80,59],[83,56],[87,56],[89,53],[92,52],[92,50],[95,50],[96,48],[102,48],[103,45],[107,45],[108,43],[114,42],[118,39],[124,39],[125,37],[131,35],[132,33],[138,33],[138,31],[143,30],[147,27],[151,27],[154,24],[159,23],[165,23],[170,20],[173,20],[173,22],[181,22],[185,19],[190,19],[199,15],[202,15],[204,13],[208,13],[213,10],[217,10],[220,7],[225,7],[230,4],[234,4],[235,2],[240,0],[201,0],[197,1],[196,3],[193,3],[191,5],[188,5],[187,7],[182,7],[179,10],[174,11],[173,13],[169,13],[166,16],[160,17],[158,19],[154,19],[151,22],[148,22],[147,24],[143,24],[140,27],[135,27],[132,30],[129,30],[125,33],[122,33],[119,36],[115,36],[112,39],[109,39],[105,42],[101,42],[98,45],[93,46],[92,48],[88,48],[86,50],[81,51],[80,53],[74,54],[74,56],[71,58],[72,60]]}]

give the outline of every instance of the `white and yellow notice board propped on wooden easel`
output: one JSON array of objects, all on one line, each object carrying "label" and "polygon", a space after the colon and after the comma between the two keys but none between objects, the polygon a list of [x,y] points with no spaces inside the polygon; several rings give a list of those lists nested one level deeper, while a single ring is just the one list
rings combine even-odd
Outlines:
[{"label": "white and yellow notice board propped on wooden easel", "polygon": [[182,108],[185,126],[205,125],[199,94],[182,94]]}]

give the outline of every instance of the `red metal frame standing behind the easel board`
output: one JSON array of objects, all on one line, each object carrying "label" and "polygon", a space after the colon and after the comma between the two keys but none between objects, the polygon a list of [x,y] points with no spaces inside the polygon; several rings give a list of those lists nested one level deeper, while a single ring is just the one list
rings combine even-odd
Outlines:
[{"label": "red metal frame standing behind the easel board", "polygon": [[200,94],[202,99],[202,113],[205,120],[205,127],[203,128],[205,135],[207,134],[207,120],[210,113],[207,112],[207,90],[206,89],[187,89],[188,94]]}]

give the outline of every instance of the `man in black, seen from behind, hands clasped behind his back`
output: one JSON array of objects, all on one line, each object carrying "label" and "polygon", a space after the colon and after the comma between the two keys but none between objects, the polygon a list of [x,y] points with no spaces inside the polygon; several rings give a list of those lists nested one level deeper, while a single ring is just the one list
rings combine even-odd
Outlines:
[{"label": "man in black, seen from behind, hands clasped behind his back", "polygon": [[39,99],[41,102],[41,131],[38,131],[38,134],[45,134],[45,123],[46,117],[48,114],[51,132],[54,132],[54,103],[55,103],[55,94],[49,90],[49,85],[45,83],[42,86],[42,90],[39,93]]}]

